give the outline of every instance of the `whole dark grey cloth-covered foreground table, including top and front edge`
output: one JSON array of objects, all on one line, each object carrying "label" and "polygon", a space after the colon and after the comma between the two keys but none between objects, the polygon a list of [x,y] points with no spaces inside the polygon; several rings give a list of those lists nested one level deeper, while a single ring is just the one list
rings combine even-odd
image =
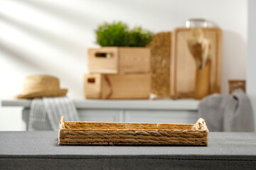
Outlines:
[{"label": "whole dark grey cloth-covered foreground table, including top and front edge", "polygon": [[210,132],[208,147],[58,146],[58,132],[0,132],[0,169],[256,169],[256,133]]}]

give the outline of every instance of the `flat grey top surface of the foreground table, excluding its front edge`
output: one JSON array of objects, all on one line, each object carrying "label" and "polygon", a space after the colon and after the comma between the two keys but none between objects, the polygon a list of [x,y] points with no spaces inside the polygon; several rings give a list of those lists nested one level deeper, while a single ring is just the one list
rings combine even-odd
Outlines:
[{"label": "flat grey top surface of the foreground table, excluding its front edge", "polygon": [[0,132],[4,155],[244,155],[256,157],[256,133],[210,132],[208,147],[184,146],[59,146],[58,132]]}]

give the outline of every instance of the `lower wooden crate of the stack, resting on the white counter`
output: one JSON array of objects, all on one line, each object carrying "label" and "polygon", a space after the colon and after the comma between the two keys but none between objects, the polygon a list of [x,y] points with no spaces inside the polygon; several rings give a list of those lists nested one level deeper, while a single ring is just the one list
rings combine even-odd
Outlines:
[{"label": "lower wooden crate of the stack, resting on the white counter", "polygon": [[85,98],[149,98],[151,74],[85,74]]}]

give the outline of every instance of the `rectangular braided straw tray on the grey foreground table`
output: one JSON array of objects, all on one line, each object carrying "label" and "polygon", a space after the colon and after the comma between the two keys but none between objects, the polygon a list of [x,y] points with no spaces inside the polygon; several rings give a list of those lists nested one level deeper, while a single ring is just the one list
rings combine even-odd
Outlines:
[{"label": "rectangular braided straw tray on the grey foreground table", "polygon": [[58,145],[208,145],[203,118],[195,125],[90,123],[60,120]]}]

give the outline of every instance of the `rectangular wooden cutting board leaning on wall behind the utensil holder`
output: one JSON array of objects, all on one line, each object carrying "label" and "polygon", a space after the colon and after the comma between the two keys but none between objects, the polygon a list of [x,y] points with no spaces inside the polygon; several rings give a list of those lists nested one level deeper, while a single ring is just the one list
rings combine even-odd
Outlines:
[{"label": "rectangular wooden cutting board leaning on wall behind the utensil holder", "polygon": [[[220,28],[202,28],[210,40],[210,94],[221,90],[222,32]],[[196,79],[196,64],[188,50],[187,40],[191,28],[176,28],[172,33],[170,94],[171,98],[193,97]]]}]

